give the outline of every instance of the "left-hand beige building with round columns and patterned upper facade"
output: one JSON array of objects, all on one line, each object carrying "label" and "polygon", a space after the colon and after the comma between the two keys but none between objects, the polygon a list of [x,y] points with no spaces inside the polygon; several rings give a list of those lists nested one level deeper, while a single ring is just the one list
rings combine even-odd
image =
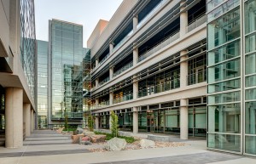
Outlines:
[{"label": "left-hand beige building with round columns and patterned upper facade", "polygon": [[34,1],[2,1],[0,22],[0,139],[16,148],[35,127]]}]

